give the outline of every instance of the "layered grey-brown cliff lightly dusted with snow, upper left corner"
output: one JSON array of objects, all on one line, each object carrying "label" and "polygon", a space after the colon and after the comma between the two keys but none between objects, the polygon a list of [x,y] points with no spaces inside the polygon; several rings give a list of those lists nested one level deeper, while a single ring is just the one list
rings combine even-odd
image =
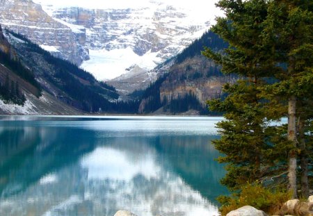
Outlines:
[{"label": "layered grey-brown cliff lightly dusted with snow, upper left corner", "polygon": [[56,22],[30,0],[1,0],[0,24],[51,51],[54,56],[80,65],[88,59],[83,47],[83,35],[75,35],[71,28]]}]

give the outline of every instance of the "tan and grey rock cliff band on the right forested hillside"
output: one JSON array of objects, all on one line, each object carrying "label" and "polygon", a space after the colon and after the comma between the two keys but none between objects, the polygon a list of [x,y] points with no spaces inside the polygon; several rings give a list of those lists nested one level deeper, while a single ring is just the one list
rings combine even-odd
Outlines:
[{"label": "tan and grey rock cliff band on the right forested hillside", "polygon": [[160,88],[161,102],[177,99],[185,94],[194,94],[204,106],[209,99],[219,98],[225,83],[233,83],[236,78],[214,74],[210,68],[218,68],[211,60],[203,56],[185,60],[170,68],[170,75]]}]

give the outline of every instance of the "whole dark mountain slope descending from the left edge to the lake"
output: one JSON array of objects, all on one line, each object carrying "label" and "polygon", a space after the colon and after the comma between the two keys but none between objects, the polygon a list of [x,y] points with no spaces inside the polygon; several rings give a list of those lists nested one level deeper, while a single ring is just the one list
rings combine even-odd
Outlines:
[{"label": "whole dark mountain slope descending from the left edge to the lake", "polygon": [[[72,63],[51,56],[22,35],[1,31],[0,38],[0,86],[4,88],[0,95],[0,113],[118,111],[119,95],[113,87],[95,80]],[[26,99],[15,99],[16,92],[24,94]]]}]

